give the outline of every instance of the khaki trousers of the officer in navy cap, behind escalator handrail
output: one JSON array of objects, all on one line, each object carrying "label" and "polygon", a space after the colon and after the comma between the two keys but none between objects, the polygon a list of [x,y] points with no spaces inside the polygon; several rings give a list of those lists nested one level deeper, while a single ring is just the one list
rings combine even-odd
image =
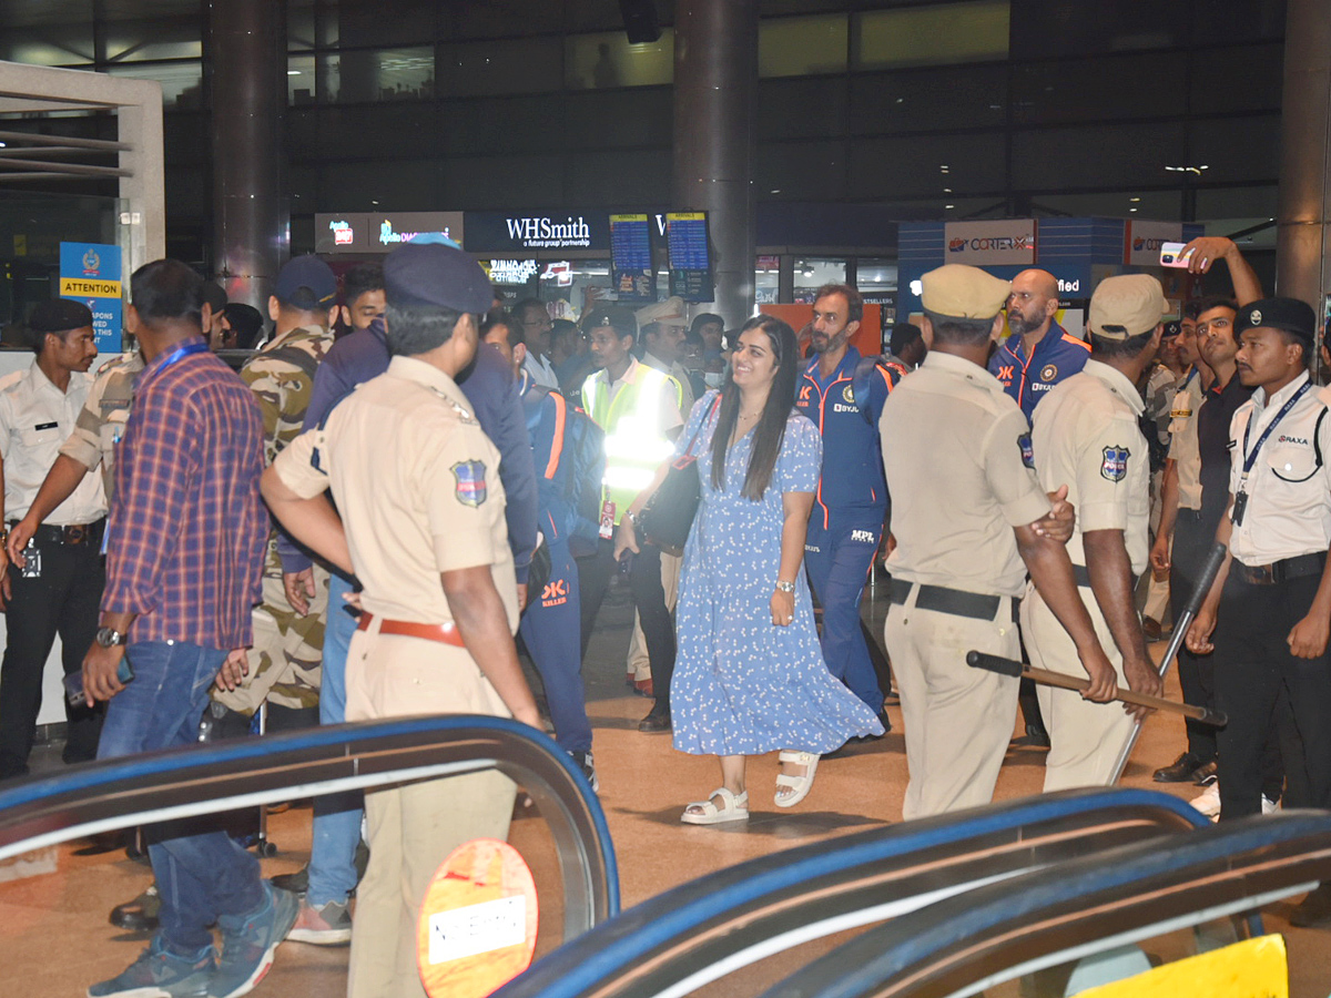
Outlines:
[{"label": "khaki trousers of the officer in navy cap, behind escalator handrail", "polygon": [[[508,712],[463,648],[379,635],[351,637],[346,719]],[[370,866],[357,889],[349,998],[425,998],[415,939],[430,880],[457,846],[507,838],[515,788],[495,770],[365,794]]]}]

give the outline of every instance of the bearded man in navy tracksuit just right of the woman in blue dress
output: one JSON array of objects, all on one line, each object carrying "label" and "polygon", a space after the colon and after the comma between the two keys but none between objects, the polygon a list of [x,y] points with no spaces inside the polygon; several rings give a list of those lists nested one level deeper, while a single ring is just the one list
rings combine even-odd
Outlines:
[{"label": "bearded man in navy tracksuit just right of the woman in blue dress", "polygon": [[880,715],[882,691],[860,627],[860,597],[882,536],[888,487],[882,476],[878,416],[893,387],[890,373],[868,373],[868,413],[855,401],[860,351],[849,339],[864,299],[849,285],[825,285],[813,302],[813,359],[796,383],[795,405],[823,434],[823,475],[815,496],[804,563],[823,604],[823,657],[828,669]]}]

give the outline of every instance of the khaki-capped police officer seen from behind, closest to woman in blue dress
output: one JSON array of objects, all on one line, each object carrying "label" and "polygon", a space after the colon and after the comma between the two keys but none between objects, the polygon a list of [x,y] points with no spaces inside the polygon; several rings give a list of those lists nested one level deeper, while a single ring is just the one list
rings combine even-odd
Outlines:
[{"label": "khaki-capped police officer seen from behind, closest to woman in blue dress", "polygon": [[[922,278],[929,353],[878,422],[897,547],[888,559],[886,645],[901,693],[910,781],[901,814],[988,804],[1017,716],[1018,680],[966,665],[978,649],[1021,657],[1017,597],[1030,571],[1094,684],[1114,673],[1073,583],[1061,492],[1036,480],[1026,418],[985,370],[1009,285],[948,265]],[[1045,402],[1045,406],[1049,403]]]}]

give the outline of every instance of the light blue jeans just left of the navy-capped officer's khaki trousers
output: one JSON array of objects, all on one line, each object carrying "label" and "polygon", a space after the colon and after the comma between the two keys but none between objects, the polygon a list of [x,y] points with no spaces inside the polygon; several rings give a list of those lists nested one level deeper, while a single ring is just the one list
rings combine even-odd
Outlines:
[{"label": "light blue jeans just left of the navy-capped officer's khaki trousers", "polygon": [[[346,720],[346,655],[355,633],[355,617],[342,596],[351,583],[337,572],[329,580],[329,617],[323,628],[323,677],[319,681],[319,724]],[[322,908],[345,904],[355,889],[355,846],[361,841],[361,793],[334,793],[314,798],[310,842],[310,884],[306,901]]]}]

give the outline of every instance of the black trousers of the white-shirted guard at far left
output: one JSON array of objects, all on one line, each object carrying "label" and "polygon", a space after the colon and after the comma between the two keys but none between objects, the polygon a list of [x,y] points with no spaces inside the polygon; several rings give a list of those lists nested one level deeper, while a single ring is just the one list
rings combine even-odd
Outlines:
[{"label": "black trousers of the white-shirted guard at far left", "polygon": [[[0,664],[0,780],[24,776],[41,711],[41,675],[60,635],[65,675],[83,669],[97,633],[97,605],[105,584],[101,531],[81,544],[39,542],[41,575],[24,579],[9,566],[11,596],[5,612],[8,644]],[[64,760],[97,757],[105,704],[95,708],[65,703],[68,733]]]}]

